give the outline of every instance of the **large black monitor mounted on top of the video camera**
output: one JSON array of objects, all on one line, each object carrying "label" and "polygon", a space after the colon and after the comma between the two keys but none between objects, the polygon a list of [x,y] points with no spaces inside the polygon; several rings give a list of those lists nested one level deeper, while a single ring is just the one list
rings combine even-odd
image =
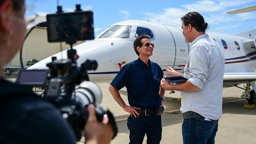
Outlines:
[{"label": "large black monitor mounted on top of the video camera", "polygon": [[93,12],[46,15],[48,42],[72,42],[94,39]]}]

